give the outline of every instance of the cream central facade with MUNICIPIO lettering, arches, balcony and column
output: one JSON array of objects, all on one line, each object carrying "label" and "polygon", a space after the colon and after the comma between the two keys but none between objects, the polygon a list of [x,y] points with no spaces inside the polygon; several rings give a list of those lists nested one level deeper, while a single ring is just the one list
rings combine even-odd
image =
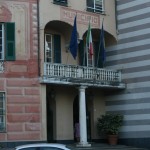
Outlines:
[{"label": "cream central facade with MUNICIPIO lettering, arches, balcony and column", "polygon": [[[69,49],[75,17],[76,59]],[[105,113],[104,92],[125,88],[121,72],[103,67],[99,54],[102,22],[105,46],[117,43],[115,17],[115,1],[40,1],[40,83],[45,95],[41,105],[47,110],[42,117],[45,120],[47,116],[45,137],[47,135],[48,141],[76,141],[76,123],[80,123],[80,146],[99,140],[96,121]],[[92,58],[89,53],[84,55],[89,23],[94,48]]]}]

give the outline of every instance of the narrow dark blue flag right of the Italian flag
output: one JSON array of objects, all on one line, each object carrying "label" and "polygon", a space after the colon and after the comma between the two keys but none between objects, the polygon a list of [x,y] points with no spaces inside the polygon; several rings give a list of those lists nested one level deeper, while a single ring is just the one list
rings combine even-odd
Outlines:
[{"label": "narrow dark blue flag right of the Italian flag", "polygon": [[105,52],[105,41],[104,41],[104,29],[103,29],[103,22],[102,22],[102,28],[100,33],[100,54],[102,58],[102,62],[106,61],[106,52]]}]

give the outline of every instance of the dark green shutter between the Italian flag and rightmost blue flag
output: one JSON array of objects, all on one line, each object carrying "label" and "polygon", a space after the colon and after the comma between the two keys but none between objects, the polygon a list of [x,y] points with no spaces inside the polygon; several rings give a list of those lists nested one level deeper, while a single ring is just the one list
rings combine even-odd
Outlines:
[{"label": "dark green shutter between the Italian flag and rightmost blue flag", "polygon": [[102,54],[101,52],[99,52],[99,42],[94,42],[94,50],[95,50],[95,67],[103,68],[102,56],[101,56]]}]

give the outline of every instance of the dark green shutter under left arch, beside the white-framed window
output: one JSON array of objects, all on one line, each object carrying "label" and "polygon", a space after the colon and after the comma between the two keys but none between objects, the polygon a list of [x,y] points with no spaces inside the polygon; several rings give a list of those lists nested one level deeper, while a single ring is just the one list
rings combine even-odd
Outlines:
[{"label": "dark green shutter under left arch, beside the white-framed window", "polygon": [[54,35],[54,63],[61,63],[61,37]]}]

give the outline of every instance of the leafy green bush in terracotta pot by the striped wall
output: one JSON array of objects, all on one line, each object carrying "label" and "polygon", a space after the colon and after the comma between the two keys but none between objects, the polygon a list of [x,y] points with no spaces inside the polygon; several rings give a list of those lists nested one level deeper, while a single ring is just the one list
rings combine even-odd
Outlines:
[{"label": "leafy green bush in terracotta pot by the striped wall", "polygon": [[[107,135],[111,145],[117,144],[119,129],[123,123],[122,114],[105,114],[97,119],[98,134]],[[113,138],[113,139],[112,139]]]}]

